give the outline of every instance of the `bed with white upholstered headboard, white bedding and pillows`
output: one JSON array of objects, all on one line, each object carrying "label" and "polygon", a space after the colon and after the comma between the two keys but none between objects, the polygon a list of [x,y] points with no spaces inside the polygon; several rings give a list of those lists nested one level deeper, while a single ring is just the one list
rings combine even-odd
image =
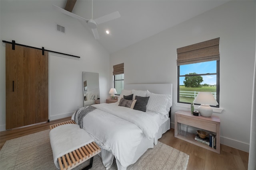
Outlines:
[{"label": "bed with white upholstered headboard, white bedding and pillows", "polygon": [[118,170],[126,170],[170,129],[172,84],[126,84],[124,89],[118,102],[80,108],[84,117],[79,109],[72,115],[101,148],[106,169],[115,158]]}]

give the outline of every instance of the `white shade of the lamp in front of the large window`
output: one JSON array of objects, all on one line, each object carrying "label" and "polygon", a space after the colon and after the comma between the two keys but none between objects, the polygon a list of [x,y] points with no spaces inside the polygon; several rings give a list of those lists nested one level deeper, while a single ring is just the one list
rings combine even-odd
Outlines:
[{"label": "white shade of the lamp in front of the large window", "polygon": [[218,105],[211,92],[199,92],[196,96],[194,103],[204,105]]}]

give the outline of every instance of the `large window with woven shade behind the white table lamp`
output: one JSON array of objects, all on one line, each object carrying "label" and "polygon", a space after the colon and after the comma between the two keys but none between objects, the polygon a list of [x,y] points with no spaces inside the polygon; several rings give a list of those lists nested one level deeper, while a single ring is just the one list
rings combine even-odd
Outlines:
[{"label": "large window with woven shade behind the white table lamp", "polygon": [[178,103],[191,104],[198,92],[212,92],[220,104],[219,38],[177,49],[177,66]]}]

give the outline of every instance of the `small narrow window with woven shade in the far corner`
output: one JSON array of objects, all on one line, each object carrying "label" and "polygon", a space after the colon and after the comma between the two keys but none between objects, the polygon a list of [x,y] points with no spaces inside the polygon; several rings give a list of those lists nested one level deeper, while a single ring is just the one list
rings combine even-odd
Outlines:
[{"label": "small narrow window with woven shade in the far corner", "polygon": [[120,95],[124,89],[124,63],[113,66],[114,88],[117,95]]}]

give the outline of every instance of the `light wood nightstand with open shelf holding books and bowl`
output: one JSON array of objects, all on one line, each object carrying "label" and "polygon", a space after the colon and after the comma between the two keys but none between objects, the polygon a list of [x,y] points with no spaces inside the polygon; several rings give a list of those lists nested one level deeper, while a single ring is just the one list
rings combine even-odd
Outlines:
[{"label": "light wood nightstand with open shelf holding books and bowl", "polygon": [[[182,135],[179,132],[180,125],[188,125],[191,127],[195,127],[195,129],[203,129],[208,132],[216,133],[216,149],[209,147],[204,143],[200,143],[196,141],[195,133],[189,133],[188,127],[185,135]],[[175,113],[175,129],[174,129],[174,137],[197,145],[199,147],[211,150],[216,153],[220,153],[220,118],[218,116],[212,117],[203,117],[203,116],[194,116],[189,111],[176,111]]]}]

